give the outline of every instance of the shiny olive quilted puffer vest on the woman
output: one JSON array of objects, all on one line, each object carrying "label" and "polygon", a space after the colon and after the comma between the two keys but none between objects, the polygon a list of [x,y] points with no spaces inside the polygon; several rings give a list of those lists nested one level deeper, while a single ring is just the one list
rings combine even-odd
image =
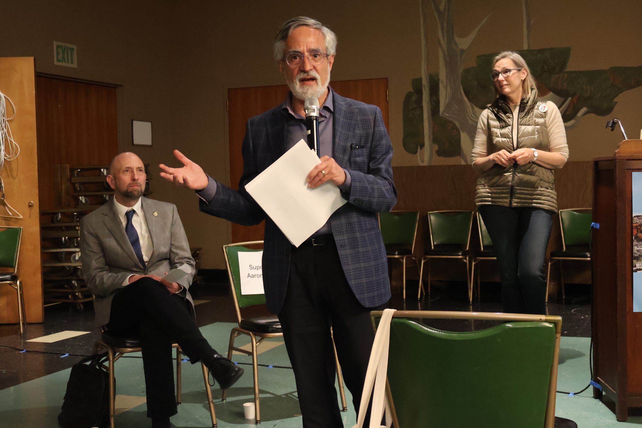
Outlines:
[{"label": "shiny olive quilted puffer vest on the woman", "polygon": [[[503,97],[488,108],[488,151],[508,153],[521,148],[548,151],[546,105],[537,101],[535,94],[522,99],[517,120],[517,141],[513,141],[513,113]],[[542,112],[542,110],[544,110]],[[503,205],[505,207],[537,207],[557,212],[557,193],[553,170],[528,162],[503,167],[494,164],[477,180],[476,205]]]}]

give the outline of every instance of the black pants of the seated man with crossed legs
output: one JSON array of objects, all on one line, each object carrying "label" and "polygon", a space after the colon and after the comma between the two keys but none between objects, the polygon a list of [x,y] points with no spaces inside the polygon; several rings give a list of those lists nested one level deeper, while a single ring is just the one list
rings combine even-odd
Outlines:
[{"label": "black pants of the seated man with crossed legs", "polygon": [[137,337],[143,349],[147,416],[176,415],[171,345],[178,343],[192,364],[215,354],[196,327],[189,303],[171,295],[152,278],[141,278],[116,292],[107,329],[116,336]]}]

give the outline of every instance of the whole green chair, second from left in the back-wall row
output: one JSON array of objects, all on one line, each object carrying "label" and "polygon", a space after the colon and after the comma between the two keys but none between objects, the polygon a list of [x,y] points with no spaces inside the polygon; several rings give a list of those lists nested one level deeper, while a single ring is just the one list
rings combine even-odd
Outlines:
[{"label": "whole green chair, second from left in the back-wall row", "polygon": [[470,254],[468,248],[471,243],[472,227],[472,211],[447,210],[428,212],[430,247],[424,250],[424,257],[421,259],[421,268],[419,268],[419,293],[417,293],[417,299],[421,298],[421,292],[424,289],[424,262],[428,262],[428,294],[430,294],[430,260],[460,259],[466,264],[468,298],[471,303],[473,302],[473,287],[471,278],[468,274],[470,265]]}]

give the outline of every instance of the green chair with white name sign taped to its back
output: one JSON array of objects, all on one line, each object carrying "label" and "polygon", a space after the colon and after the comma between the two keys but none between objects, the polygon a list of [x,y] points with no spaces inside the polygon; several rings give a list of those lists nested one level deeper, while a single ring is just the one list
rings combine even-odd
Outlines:
[{"label": "green chair with white name sign taped to its back", "polygon": [[[234,298],[234,307],[236,309],[236,318],[238,327],[234,327],[230,332],[230,345],[227,350],[227,358],[232,359],[232,352],[241,352],[241,354],[252,356],[252,374],[254,375],[254,409],[256,424],[261,424],[261,409],[259,407],[259,362],[257,347],[265,339],[282,338],[281,321],[276,315],[257,316],[254,318],[244,318],[241,314],[241,308],[252,305],[265,305],[265,294],[260,295],[243,295],[241,294],[241,273],[239,270],[239,252],[258,252],[262,249],[247,248],[247,246],[263,246],[263,241],[249,241],[244,243],[223,245],[223,254],[225,255],[225,264],[227,265],[227,274],[230,279],[230,288]],[[251,350],[245,350],[234,346],[234,341],[238,336],[244,334],[250,336]],[[332,334],[332,330],[330,331]],[[257,339],[258,338],[258,339]],[[336,362],[336,376],[339,383],[339,393],[341,396],[342,411],[347,411],[345,401],[345,392],[343,391],[343,376],[339,359],[334,348],[334,361]],[[223,389],[221,400],[227,400],[227,390]]]}]

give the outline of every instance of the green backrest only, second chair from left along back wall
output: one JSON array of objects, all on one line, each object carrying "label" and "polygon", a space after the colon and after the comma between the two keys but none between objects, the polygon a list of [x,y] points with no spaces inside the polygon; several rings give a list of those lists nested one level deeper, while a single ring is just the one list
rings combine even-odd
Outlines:
[{"label": "green backrest only, second chair from left along back wall", "polygon": [[468,249],[473,225],[472,211],[428,212],[430,240],[434,245],[460,244]]}]

